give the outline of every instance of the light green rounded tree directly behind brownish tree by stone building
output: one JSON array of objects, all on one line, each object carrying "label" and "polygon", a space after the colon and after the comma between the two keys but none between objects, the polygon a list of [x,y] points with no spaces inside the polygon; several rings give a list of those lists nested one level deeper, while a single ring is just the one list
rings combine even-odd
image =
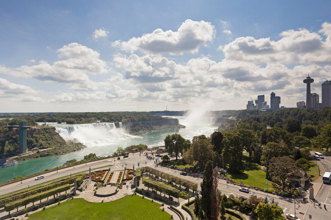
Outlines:
[{"label": "light green rounded tree directly behind brownish tree by stone building", "polygon": [[281,142],[281,143],[268,142],[263,147],[262,156],[261,156],[262,165],[266,165],[267,158],[268,158],[270,152],[272,153],[273,157],[281,157],[281,156],[289,155],[290,150],[285,145],[284,142]]}]

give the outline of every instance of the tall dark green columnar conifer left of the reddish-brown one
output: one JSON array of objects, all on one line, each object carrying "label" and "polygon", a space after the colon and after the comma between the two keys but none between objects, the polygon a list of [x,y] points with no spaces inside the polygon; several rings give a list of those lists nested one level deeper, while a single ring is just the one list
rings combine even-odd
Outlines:
[{"label": "tall dark green columnar conifer left of the reddish-brown one", "polygon": [[207,219],[211,219],[211,194],[213,188],[213,168],[211,161],[207,162],[204,174],[205,176],[201,183],[201,208],[205,212]]}]

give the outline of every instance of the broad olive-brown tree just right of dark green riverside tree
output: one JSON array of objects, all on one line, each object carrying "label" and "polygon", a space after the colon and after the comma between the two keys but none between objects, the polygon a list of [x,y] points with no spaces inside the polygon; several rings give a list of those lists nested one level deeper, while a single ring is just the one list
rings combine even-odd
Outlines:
[{"label": "broad olive-brown tree just right of dark green riverside tree", "polygon": [[200,167],[204,167],[209,160],[213,160],[213,145],[208,139],[195,140],[183,158],[190,165],[198,162]]}]

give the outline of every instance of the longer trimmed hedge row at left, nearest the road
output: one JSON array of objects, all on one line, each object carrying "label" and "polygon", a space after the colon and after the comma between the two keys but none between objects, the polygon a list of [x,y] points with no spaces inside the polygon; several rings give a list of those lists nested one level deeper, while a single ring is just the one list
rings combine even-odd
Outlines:
[{"label": "longer trimmed hedge row at left, nearest the road", "polygon": [[[72,184],[72,183],[74,183],[76,177],[77,177],[77,185],[80,185],[80,183],[85,178],[85,173],[76,174],[76,175],[71,176],[71,177],[66,177],[66,178],[62,178],[62,179],[53,181],[53,182],[48,183],[46,185],[40,185],[40,186],[33,187],[33,188],[30,188],[30,189],[27,189],[27,190],[22,190],[22,191],[19,191],[19,192],[16,192],[16,193],[12,193],[12,194],[9,194],[9,195],[6,195],[6,196],[2,196],[2,197],[0,197],[0,205],[5,205],[9,202],[20,200],[20,199],[23,199],[23,198],[28,197],[30,195],[45,192],[47,190],[54,189],[54,188],[57,188],[59,186],[63,186],[63,185],[66,185],[66,184]],[[78,180],[79,180],[79,184],[78,184]]]}]

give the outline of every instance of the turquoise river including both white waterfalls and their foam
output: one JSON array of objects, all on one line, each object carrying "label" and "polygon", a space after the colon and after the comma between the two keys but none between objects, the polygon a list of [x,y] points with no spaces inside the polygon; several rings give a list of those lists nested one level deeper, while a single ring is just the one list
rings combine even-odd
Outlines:
[{"label": "turquoise river including both white waterfalls and their foam", "polygon": [[[169,116],[167,116],[169,117]],[[57,123],[47,123],[48,126],[56,127],[56,131],[65,140],[75,140],[85,144],[87,147],[71,152],[66,155],[41,157],[26,161],[20,161],[18,165],[0,167],[0,183],[12,180],[15,176],[26,176],[33,173],[52,169],[63,165],[66,161],[81,160],[85,155],[95,153],[97,156],[112,155],[118,147],[123,149],[133,144],[146,144],[149,147],[164,145],[164,138],[168,134],[179,133],[185,139],[190,139],[196,135],[205,134],[210,136],[217,127],[211,126],[212,118],[199,118],[199,120],[188,117],[175,117],[181,125],[186,128],[167,129],[150,132],[140,136],[128,134],[122,128],[115,128],[114,123],[66,125]],[[41,123],[43,124],[43,123]]]}]

